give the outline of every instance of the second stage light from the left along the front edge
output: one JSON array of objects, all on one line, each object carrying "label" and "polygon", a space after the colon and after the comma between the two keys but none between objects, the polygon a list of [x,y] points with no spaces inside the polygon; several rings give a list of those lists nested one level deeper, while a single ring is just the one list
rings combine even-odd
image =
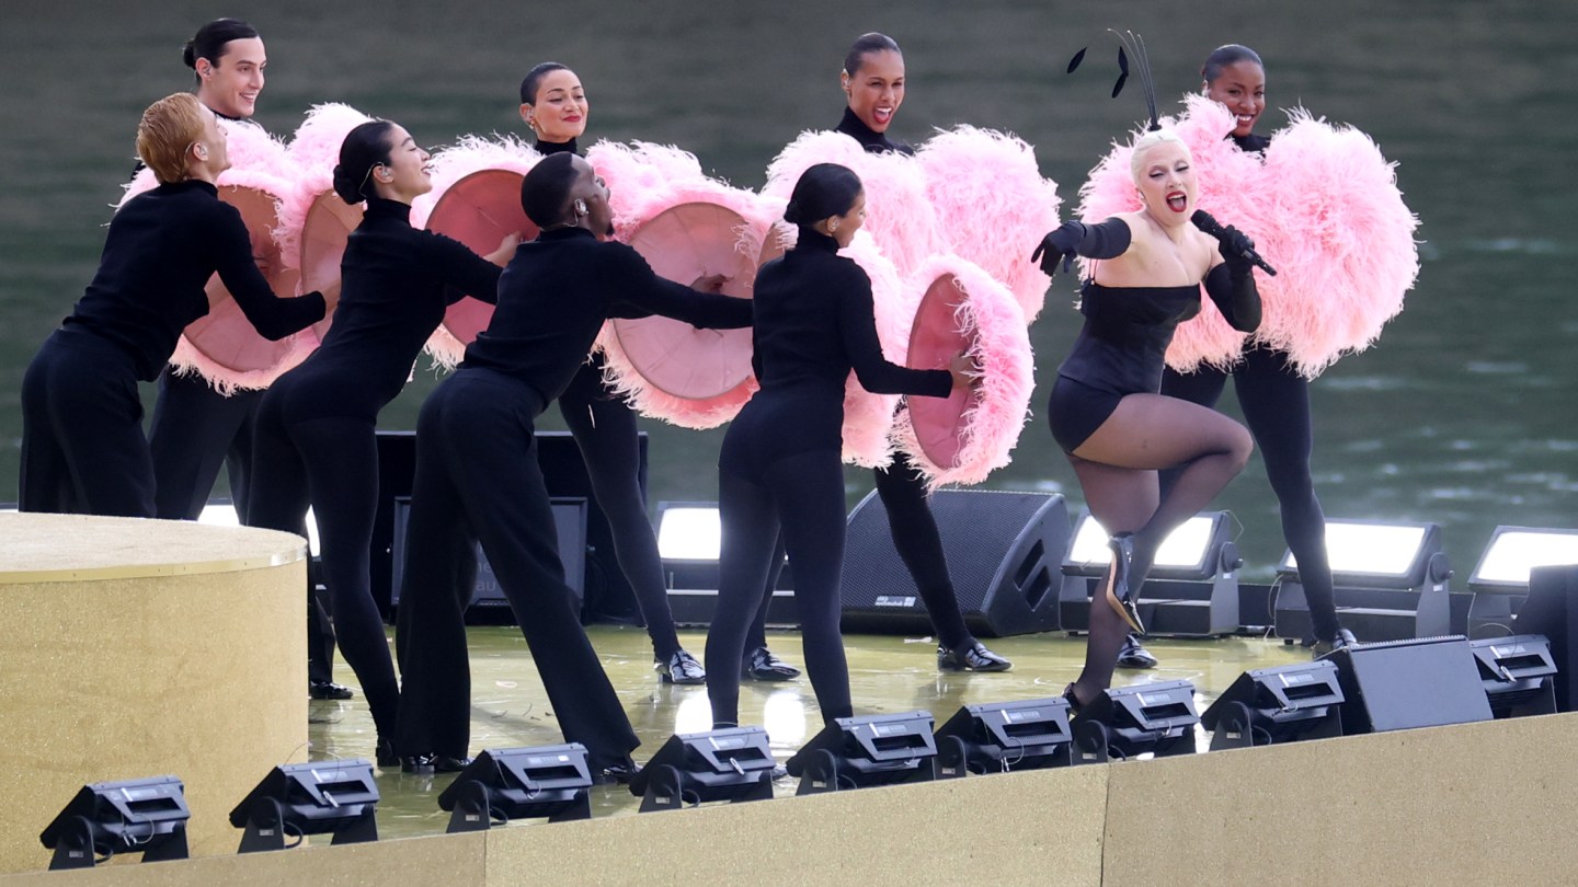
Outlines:
[{"label": "second stage light from the left along the front edge", "polygon": [[[294,848],[306,835],[333,835],[335,844],[376,841],[377,803],[372,764],[363,758],[282,764],[230,811],[230,825],[245,829],[237,852]],[[297,841],[286,844],[286,835]]]}]

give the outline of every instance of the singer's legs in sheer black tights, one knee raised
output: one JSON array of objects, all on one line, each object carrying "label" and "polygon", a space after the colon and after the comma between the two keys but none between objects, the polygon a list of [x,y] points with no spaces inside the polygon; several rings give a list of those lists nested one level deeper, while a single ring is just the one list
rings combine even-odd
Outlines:
[{"label": "singer's legs in sheer black tights, one knee raised", "polygon": [[[1176,398],[1128,395],[1068,461],[1095,519],[1109,533],[1135,533],[1135,549],[1149,562],[1168,533],[1243,470],[1251,448],[1250,432],[1221,414]],[[1161,497],[1157,470],[1172,466],[1184,469]],[[1109,606],[1092,601],[1086,664],[1075,682],[1081,702],[1111,685],[1127,634]]]}]

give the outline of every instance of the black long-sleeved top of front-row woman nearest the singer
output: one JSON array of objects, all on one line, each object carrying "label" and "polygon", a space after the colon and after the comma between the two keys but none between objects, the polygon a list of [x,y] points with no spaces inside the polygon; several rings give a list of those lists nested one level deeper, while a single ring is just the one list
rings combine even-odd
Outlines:
[{"label": "black long-sleeved top of front-row woman nearest the singer", "polygon": [[748,470],[843,445],[844,385],[854,369],[879,395],[945,398],[947,369],[888,363],[877,339],[871,279],[832,237],[802,227],[795,248],[756,275],[751,366],[762,388],[729,429],[720,466]]}]

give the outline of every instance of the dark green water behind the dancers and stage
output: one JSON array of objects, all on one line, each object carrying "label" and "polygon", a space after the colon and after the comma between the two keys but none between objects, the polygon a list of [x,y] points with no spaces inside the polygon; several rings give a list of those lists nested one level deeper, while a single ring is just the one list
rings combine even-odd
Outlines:
[{"label": "dark green water behind the dancers and stage", "polygon": [[[93,273],[107,207],[131,170],[137,114],[189,87],[180,44],[216,14],[234,11],[63,0],[0,13],[0,500],[16,497],[22,371]],[[1460,576],[1498,524],[1575,526],[1578,6],[391,0],[259,3],[243,14],[270,54],[257,115],[270,131],[289,134],[319,101],[398,120],[429,145],[519,131],[519,77],[557,58],[587,85],[590,137],[679,144],[745,186],[762,183],[800,129],[838,120],[843,51],[879,28],[906,49],[909,96],[893,134],[1011,129],[1037,147],[1065,204],[1141,112],[1133,87],[1105,98],[1105,73],[1064,76],[1076,49],[1108,52],[1106,27],[1144,33],[1171,103],[1198,85],[1206,52],[1247,43],[1267,60],[1270,104],[1302,103],[1370,133],[1398,161],[1423,221],[1423,270],[1404,313],[1378,347],[1313,388],[1327,515],[1439,521]],[[1277,120],[1269,112],[1262,129]],[[1051,369],[1078,328],[1060,309],[1071,295],[1059,279],[1032,331],[1037,417],[991,486],[1079,500],[1041,415]],[[418,372],[383,428],[412,428],[432,384]],[[645,428],[652,502],[712,499],[721,432]],[[852,497],[869,488],[862,472],[847,478]],[[1266,576],[1283,546],[1259,462],[1220,503],[1243,522],[1248,573]]]}]

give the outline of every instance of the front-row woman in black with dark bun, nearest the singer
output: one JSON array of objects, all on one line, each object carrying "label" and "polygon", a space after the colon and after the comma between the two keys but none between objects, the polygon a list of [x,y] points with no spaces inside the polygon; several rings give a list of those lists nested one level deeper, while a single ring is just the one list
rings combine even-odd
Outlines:
[{"label": "front-row woman in black with dark bun, nearest the singer", "polygon": [[876,393],[944,398],[966,385],[963,357],[950,369],[909,369],[882,358],[871,281],[838,256],[865,221],[860,178],[816,164],[795,183],[784,221],[798,240],[756,275],[753,368],[761,390],[729,425],[718,458],[723,552],[718,611],[707,631],[707,696],[715,728],[740,720],[745,634],[773,567],[780,530],[794,560],[795,606],[806,671],[822,717],[854,713],[838,631],[844,560],[844,473],[839,459],[844,385],[854,369]]}]

